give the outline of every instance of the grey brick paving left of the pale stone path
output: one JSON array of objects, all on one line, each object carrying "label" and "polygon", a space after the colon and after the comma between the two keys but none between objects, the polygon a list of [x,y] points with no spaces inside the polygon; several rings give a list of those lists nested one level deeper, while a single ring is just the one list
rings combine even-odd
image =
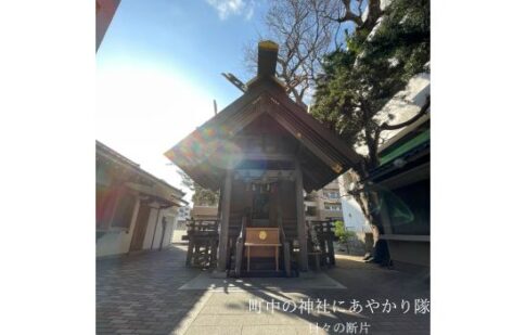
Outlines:
[{"label": "grey brick paving left of the pale stone path", "polygon": [[97,334],[169,334],[204,291],[177,288],[201,271],[184,267],[185,250],[171,247],[97,261]]}]

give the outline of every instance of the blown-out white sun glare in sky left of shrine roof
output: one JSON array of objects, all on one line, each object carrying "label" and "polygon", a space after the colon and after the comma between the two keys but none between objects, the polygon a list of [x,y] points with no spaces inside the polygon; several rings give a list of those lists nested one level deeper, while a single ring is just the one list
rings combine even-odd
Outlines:
[{"label": "blown-out white sun glare in sky left of shrine roof", "polygon": [[214,116],[213,98],[172,68],[112,64],[97,74],[97,139],[179,185],[163,153]]}]

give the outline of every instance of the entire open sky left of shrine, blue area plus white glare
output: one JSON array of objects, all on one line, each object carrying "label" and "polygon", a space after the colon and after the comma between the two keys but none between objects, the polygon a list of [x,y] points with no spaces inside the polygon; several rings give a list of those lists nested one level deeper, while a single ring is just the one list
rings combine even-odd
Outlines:
[{"label": "entire open sky left of shrine, blue area plus white glare", "polygon": [[243,46],[264,31],[248,0],[123,0],[97,53],[97,139],[180,186],[163,153],[241,95]]}]

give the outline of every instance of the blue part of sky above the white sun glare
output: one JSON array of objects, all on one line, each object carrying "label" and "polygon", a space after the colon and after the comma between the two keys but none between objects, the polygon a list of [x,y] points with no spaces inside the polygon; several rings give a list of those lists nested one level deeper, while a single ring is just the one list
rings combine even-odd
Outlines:
[{"label": "blue part of sky above the white sun glare", "polygon": [[239,91],[220,73],[249,77],[242,50],[264,30],[261,3],[123,0],[99,49],[98,70],[123,63],[177,70],[226,105]]}]

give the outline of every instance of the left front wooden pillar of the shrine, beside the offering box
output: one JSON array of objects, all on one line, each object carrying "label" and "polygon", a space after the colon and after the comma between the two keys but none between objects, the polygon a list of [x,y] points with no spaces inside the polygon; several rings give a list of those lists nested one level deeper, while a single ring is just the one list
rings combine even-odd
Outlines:
[{"label": "left front wooden pillar of the shrine, beside the offering box", "polygon": [[228,169],[224,176],[224,184],[221,190],[221,227],[219,234],[219,255],[217,261],[217,270],[227,270],[227,252],[229,242],[229,226],[230,226],[230,199],[232,197],[232,170]]}]

